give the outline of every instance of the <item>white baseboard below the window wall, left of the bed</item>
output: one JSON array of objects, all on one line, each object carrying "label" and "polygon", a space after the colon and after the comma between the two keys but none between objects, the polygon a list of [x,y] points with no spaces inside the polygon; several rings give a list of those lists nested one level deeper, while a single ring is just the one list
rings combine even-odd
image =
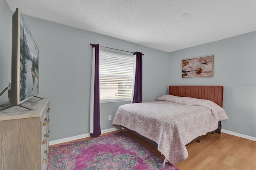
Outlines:
[{"label": "white baseboard below the window wall, left of the bed", "polygon": [[[117,129],[115,127],[110,128],[110,129],[105,129],[105,130],[101,131],[101,134],[112,132],[112,131],[117,131]],[[75,140],[78,140],[78,139],[83,139],[83,138],[86,138],[86,137],[90,137],[90,133],[86,133],[86,134],[83,134],[83,135],[77,135],[77,136],[73,136],[73,137],[67,137],[67,138],[63,138],[63,139],[58,139],[58,140],[50,141],[49,145],[50,146],[51,145],[57,145],[57,144],[60,144],[60,143],[66,143],[66,142],[75,141]]]}]

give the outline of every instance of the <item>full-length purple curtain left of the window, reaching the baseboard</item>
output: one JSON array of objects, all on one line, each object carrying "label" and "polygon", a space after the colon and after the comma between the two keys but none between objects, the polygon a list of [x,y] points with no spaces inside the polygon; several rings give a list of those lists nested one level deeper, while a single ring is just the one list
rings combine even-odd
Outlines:
[{"label": "full-length purple curtain left of the window, reaching the baseboard", "polygon": [[[100,52],[99,44],[93,46],[95,48],[95,71],[94,71],[94,104],[93,104],[93,133],[91,137],[101,135],[100,132]],[[93,87],[91,87],[93,88]]]}]

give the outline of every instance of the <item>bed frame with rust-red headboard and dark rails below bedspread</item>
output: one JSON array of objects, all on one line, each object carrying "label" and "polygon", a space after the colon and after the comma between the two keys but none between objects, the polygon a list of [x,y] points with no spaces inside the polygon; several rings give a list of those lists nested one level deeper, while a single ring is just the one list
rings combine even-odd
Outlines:
[{"label": "bed frame with rust-red headboard and dark rails below bedspread", "polygon": [[[169,94],[173,96],[211,100],[212,102],[218,104],[220,107],[222,107],[222,104],[223,104],[223,86],[169,86]],[[155,146],[158,146],[156,142],[138,134],[137,132],[132,131],[126,127],[124,127],[124,129],[130,131],[131,133],[134,133],[135,135],[144,139],[145,141],[148,141],[149,143]],[[218,128],[215,131],[208,132],[208,133],[216,132],[220,134],[220,131],[221,131],[221,121],[218,122]],[[194,141],[200,142],[200,137],[197,137],[190,143]]]}]

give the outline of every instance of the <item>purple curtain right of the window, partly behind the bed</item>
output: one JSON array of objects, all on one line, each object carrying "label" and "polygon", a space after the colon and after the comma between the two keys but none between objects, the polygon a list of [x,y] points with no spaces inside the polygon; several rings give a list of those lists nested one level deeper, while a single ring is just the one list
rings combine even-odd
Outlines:
[{"label": "purple curtain right of the window, partly behind the bed", "polygon": [[142,53],[136,52],[136,69],[132,103],[142,102]]}]

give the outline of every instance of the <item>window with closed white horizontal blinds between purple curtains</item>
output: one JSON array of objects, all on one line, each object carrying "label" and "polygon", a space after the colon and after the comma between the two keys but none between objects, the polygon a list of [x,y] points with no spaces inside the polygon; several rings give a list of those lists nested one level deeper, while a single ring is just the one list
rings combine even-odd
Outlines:
[{"label": "window with closed white horizontal blinds between purple curtains", "polygon": [[100,101],[131,100],[132,56],[100,51]]}]

